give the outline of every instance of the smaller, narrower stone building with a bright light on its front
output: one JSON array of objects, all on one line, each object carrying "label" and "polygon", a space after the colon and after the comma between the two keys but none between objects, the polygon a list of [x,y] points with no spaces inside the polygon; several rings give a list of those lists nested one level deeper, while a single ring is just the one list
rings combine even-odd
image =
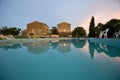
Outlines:
[{"label": "smaller, narrower stone building with a bright light on its front", "polygon": [[58,28],[58,35],[60,37],[71,37],[72,35],[71,24],[67,22],[62,22],[62,23],[57,24],[57,28]]}]

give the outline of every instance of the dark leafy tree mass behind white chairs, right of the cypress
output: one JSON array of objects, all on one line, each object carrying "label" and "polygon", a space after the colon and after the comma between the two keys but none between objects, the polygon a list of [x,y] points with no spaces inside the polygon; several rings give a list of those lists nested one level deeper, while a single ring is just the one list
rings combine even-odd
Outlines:
[{"label": "dark leafy tree mass behind white chairs, right of the cypress", "polygon": [[120,31],[120,20],[111,19],[105,24],[99,23],[95,27],[95,35],[99,36],[100,32],[105,31],[106,29],[109,29],[107,33],[108,38],[114,37],[114,33]]}]

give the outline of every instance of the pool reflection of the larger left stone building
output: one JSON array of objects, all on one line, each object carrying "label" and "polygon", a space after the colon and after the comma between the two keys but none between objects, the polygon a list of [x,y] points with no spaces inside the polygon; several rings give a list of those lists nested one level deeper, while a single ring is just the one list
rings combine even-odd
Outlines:
[{"label": "pool reflection of the larger left stone building", "polygon": [[47,40],[25,43],[23,45],[28,48],[28,52],[31,52],[34,54],[45,53],[49,49],[49,41],[47,41]]}]

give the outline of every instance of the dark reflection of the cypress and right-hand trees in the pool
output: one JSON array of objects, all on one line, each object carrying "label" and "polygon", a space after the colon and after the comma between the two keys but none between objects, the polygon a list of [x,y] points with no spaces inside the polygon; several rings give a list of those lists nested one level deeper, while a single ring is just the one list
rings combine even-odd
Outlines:
[{"label": "dark reflection of the cypress and right-hand trees in the pool", "polygon": [[106,44],[96,44],[94,42],[89,43],[89,53],[91,56],[91,59],[94,58],[94,51],[96,50],[98,53],[105,53],[109,57],[120,57],[120,48],[119,47],[113,47]]}]

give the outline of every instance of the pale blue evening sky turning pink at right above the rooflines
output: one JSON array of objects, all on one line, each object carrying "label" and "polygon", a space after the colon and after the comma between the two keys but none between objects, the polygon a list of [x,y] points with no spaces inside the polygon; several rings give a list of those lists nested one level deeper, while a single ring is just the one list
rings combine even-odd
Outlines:
[{"label": "pale blue evening sky turning pink at right above the rooflines", "polygon": [[92,16],[95,25],[120,19],[120,0],[0,0],[0,28],[8,26],[24,30],[33,21],[52,28],[68,22],[71,30],[81,26],[88,33]]}]

